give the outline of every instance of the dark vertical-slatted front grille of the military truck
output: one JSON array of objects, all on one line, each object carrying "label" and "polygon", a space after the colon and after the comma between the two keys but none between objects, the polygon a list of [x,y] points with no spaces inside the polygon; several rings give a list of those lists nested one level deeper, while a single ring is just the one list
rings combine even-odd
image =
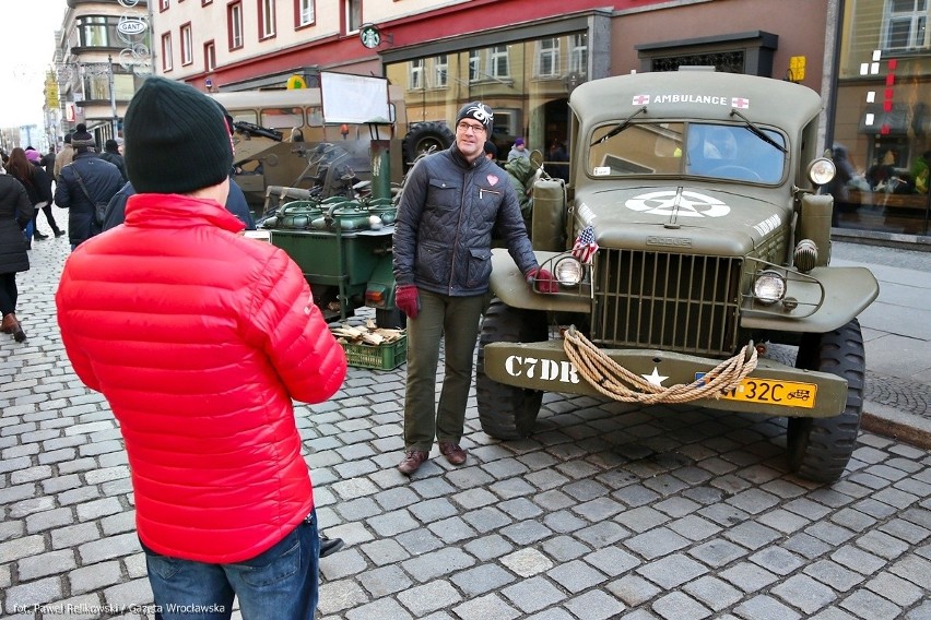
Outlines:
[{"label": "dark vertical-slatted front grille of the military truck", "polygon": [[742,260],[599,250],[592,338],[727,357],[736,345]]}]

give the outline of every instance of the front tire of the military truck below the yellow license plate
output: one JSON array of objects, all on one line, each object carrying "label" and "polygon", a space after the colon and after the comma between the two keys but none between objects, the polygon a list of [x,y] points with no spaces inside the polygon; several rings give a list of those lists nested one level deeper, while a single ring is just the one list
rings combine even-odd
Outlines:
[{"label": "front tire of the military truck below the yellow license plate", "polygon": [[797,368],[830,372],[847,380],[847,403],[833,418],[789,418],[789,467],[803,478],[834,482],[844,474],[860,431],[867,372],[860,322],[825,334],[804,334]]}]

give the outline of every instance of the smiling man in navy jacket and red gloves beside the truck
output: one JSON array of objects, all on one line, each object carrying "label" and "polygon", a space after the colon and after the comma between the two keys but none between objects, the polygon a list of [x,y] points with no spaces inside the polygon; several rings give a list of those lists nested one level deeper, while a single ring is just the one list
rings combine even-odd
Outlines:
[{"label": "smiling man in navy jacket and red gloves beside the truck", "polygon": [[[507,172],[484,156],[494,127],[481,102],[462,106],[456,139],[408,174],[394,222],[394,301],[408,317],[404,456],[410,476],[429,458],[434,439],[452,465],[467,460],[460,445],[472,383],[479,318],[492,273],[492,231],[537,290],[556,293],[537,263]],[[446,373],[436,404],[440,339]]]}]

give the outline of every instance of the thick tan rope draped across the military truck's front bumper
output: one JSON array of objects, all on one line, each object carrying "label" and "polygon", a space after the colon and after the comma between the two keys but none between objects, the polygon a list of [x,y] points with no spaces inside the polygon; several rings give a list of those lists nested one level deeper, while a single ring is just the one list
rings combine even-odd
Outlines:
[{"label": "thick tan rope draped across the military truck's front bumper", "polygon": [[[623,403],[687,403],[698,398],[720,398],[735,390],[756,368],[756,347],[745,345],[735,356],[726,359],[692,383],[676,383],[669,388],[650,383],[611,359],[594,346],[575,326],[563,333],[563,349],[579,374],[603,395]],[[628,388],[627,384],[633,388]]]}]

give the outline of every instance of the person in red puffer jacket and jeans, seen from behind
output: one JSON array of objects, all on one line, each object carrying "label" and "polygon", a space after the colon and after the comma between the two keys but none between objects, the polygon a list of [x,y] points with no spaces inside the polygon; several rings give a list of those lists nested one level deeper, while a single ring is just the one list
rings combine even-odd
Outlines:
[{"label": "person in red puffer jacket and jeans, seen from behind", "polygon": [[335,394],[345,354],[300,267],[224,208],[232,142],[207,95],[151,76],[123,134],[138,193],[68,258],[56,307],[119,420],[154,603],[310,620],[320,539],[293,401]]}]

